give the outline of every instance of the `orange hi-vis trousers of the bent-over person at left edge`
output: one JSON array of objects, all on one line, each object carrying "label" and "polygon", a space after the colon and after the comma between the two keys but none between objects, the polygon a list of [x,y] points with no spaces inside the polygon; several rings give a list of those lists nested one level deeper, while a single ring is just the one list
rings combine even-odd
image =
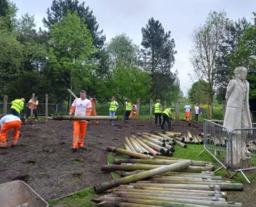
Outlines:
[{"label": "orange hi-vis trousers of the bent-over person at left edge", "polygon": [[19,139],[19,129],[21,128],[21,121],[15,120],[3,124],[0,131],[0,148],[6,148],[8,133],[12,128],[15,130],[12,135],[12,145],[16,145]]}]

